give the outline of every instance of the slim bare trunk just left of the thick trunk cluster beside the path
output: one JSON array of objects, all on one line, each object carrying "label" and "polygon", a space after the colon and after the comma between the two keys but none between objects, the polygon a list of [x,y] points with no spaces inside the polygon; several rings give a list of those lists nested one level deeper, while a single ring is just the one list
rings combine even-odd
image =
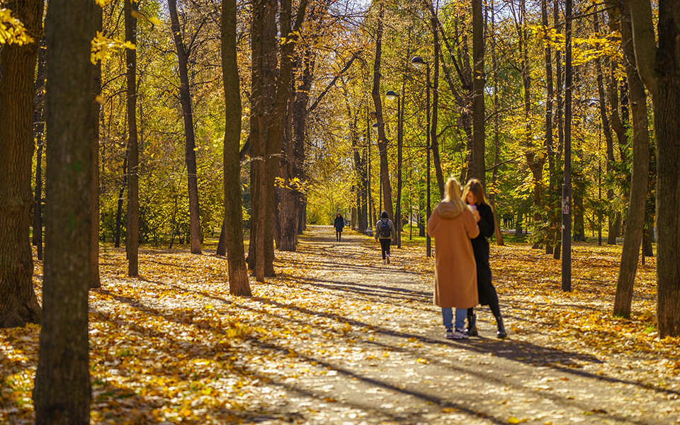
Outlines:
[{"label": "slim bare trunk just left of the thick trunk cluster beside the path", "polygon": [[[243,247],[243,213],[239,174],[241,144],[241,89],[236,52],[236,0],[222,0],[222,78],[225,86],[225,234],[229,293],[250,296]],[[227,220],[227,217],[229,220]]]}]

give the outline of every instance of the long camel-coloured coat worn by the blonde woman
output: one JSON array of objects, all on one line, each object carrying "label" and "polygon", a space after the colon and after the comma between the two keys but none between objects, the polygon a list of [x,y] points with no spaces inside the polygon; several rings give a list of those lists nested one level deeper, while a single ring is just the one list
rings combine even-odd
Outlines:
[{"label": "long camel-coloured coat worn by the blonde woman", "polygon": [[427,221],[433,237],[434,303],[439,307],[470,308],[479,303],[477,265],[470,239],[480,234],[477,220],[467,207],[460,212],[452,203],[440,202]]}]

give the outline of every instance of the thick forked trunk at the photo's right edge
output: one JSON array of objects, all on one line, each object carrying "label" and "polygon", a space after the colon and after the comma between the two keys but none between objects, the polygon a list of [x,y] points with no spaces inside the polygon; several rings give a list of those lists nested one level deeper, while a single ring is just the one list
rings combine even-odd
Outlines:
[{"label": "thick forked trunk at the photo's right edge", "polygon": [[635,59],[642,81],[652,94],[657,161],[657,317],[659,336],[680,335],[680,9],[659,1],[655,42],[650,1],[625,0],[630,10]]}]

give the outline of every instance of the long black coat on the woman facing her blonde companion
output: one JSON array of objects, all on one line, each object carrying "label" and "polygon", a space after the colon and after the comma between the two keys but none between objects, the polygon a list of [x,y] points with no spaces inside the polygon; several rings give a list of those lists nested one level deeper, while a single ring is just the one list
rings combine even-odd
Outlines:
[{"label": "long black coat on the woman facing her blonde companion", "polygon": [[472,251],[477,262],[477,290],[480,293],[480,304],[489,305],[498,302],[496,288],[492,283],[491,267],[489,266],[489,241],[487,238],[494,234],[494,212],[487,204],[477,205],[480,212],[480,234],[472,239]]}]

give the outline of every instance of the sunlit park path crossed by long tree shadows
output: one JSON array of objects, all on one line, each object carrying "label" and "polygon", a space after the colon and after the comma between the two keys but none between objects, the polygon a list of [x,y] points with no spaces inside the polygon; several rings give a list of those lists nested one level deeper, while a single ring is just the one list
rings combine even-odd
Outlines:
[{"label": "sunlit park path crossed by long tree shadows", "polygon": [[[308,230],[297,253],[279,253],[277,263],[294,268],[295,261],[304,261],[307,270],[311,264],[311,276],[297,284],[341,297],[356,309],[300,310],[314,326],[343,331],[324,343],[336,354],[300,354],[300,361],[327,371],[280,382],[272,390],[277,401],[256,421],[680,424],[677,381],[655,386],[628,379],[630,374],[601,373],[616,368],[608,364],[613,360],[563,351],[545,326],[537,325],[536,337],[514,334],[514,322],[532,319],[526,317],[533,311],[529,303],[501,300],[508,339],[495,337],[484,307],[480,337],[449,341],[431,302],[432,272],[409,261],[414,249],[394,248],[392,264],[382,266],[372,238],[350,231],[336,242],[330,226]],[[298,352],[318,351],[318,344],[312,338]]]}]

